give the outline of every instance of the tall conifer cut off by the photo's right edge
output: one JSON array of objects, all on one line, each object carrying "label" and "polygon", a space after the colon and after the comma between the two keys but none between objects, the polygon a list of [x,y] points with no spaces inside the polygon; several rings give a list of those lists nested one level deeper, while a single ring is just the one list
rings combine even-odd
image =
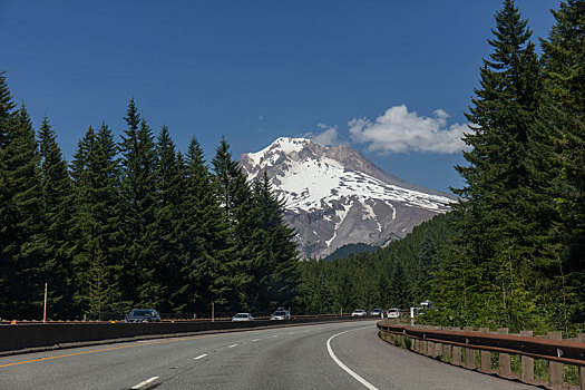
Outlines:
[{"label": "tall conifer cut off by the photo's right edge", "polygon": [[552,322],[566,329],[585,321],[585,2],[567,0],[553,14],[556,23],[542,40],[544,88],[533,126],[534,172],[547,189],[538,205],[539,222],[549,227],[545,289],[554,293],[545,296],[553,299]]}]

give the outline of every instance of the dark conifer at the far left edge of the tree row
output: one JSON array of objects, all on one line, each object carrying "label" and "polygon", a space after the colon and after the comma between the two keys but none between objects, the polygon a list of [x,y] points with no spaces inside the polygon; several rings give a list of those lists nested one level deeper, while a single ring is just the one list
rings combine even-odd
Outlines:
[{"label": "dark conifer at the far left edge of the tree row", "polygon": [[[6,100],[7,89],[3,89]],[[38,144],[25,106],[10,113],[10,101],[3,103],[2,170],[6,188],[2,226],[2,250],[6,261],[6,287],[10,302],[8,315],[39,318],[42,315],[43,286],[41,269],[46,259],[42,225]],[[3,221],[3,222],[4,222]]]}]

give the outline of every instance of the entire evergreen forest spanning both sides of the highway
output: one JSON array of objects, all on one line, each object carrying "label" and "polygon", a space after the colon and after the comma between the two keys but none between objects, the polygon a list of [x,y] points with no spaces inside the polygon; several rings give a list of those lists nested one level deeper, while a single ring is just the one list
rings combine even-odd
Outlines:
[{"label": "entire evergreen forest spanning both sides of the highway", "polygon": [[246,181],[227,140],[208,163],[195,137],[182,153],[130,100],[119,139],[88,127],[66,162],[49,118],[35,128],[0,74],[0,316],[41,318],[49,283],[51,319],[430,300],[432,324],[583,329],[585,1],[552,12],[537,42],[513,0],[495,13],[452,211],[329,261],[300,259],[285,201],[266,175]]}]

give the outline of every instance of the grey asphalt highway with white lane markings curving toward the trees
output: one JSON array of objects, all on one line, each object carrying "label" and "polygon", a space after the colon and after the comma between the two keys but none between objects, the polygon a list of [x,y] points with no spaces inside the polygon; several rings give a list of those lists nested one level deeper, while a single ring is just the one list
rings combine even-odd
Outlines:
[{"label": "grey asphalt highway with white lane markings curving toward the trees", "polygon": [[374,321],[0,358],[0,389],[529,389],[391,347]]}]

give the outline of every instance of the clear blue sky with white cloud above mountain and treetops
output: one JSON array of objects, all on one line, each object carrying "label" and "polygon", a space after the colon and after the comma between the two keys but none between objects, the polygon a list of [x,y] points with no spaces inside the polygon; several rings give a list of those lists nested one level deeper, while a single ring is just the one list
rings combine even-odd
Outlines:
[{"label": "clear blue sky with white cloud above mountain and treetops", "polygon": [[[555,0],[517,0],[546,37]],[[0,0],[0,70],[67,159],[128,100],[207,160],[281,136],[345,144],[408,182],[461,186],[458,134],[501,1]]]}]

